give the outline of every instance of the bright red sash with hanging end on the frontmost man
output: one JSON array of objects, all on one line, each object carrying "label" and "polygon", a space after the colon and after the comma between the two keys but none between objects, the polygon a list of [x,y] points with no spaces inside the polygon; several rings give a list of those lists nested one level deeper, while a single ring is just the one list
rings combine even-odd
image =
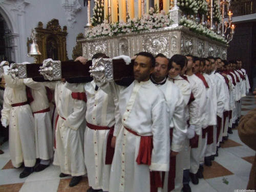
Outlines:
[{"label": "bright red sash with hanging end on the frontmost man", "polygon": [[[130,133],[138,135],[136,132],[124,127]],[[140,136],[140,147],[139,147],[139,154],[136,159],[138,165],[146,164],[151,165],[151,155],[153,150],[153,137],[152,136]],[[151,192],[157,192],[158,187],[162,187],[162,181],[160,177],[160,172],[152,171],[150,172],[150,188]]]}]

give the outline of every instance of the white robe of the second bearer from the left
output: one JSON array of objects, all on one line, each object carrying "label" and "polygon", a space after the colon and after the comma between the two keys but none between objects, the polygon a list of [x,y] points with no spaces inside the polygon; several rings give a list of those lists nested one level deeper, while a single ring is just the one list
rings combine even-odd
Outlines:
[{"label": "white robe of the second bearer from the left", "polygon": [[53,157],[51,112],[35,113],[49,108],[46,88],[42,83],[35,82],[31,78],[24,79],[24,83],[30,88],[34,99],[30,107],[34,113],[36,158],[49,160]]}]

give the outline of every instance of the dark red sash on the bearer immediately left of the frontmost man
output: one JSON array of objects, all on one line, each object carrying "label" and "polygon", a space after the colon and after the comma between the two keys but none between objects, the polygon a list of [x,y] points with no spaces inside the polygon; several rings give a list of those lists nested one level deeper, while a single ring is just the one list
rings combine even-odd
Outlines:
[{"label": "dark red sash on the bearer immediately left of the frontmost man", "polygon": [[113,148],[113,147],[111,146],[111,141],[112,141],[113,134],[114,134],[114,126],[112,126],[112,127],[108,127],[108,126],[98,126],[98,125],[91,124],[91,123],[89,123],[89,122],[87,122],[87,126],[88,126],[91,130],[110,130],[110,131],[109,131],[109,135],[108,135],[108,139],[106,140],[105,164],[106,164],[106,165],[112,164],[113,157],[114,157],[114,153],[115,153],[115,148]]}]

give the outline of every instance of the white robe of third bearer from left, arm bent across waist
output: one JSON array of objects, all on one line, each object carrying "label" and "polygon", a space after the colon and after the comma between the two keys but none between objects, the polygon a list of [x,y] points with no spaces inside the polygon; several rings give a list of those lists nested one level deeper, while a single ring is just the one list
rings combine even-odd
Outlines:
[{"label": "white robe of third bearer from left, arm bent across waist", "polygon": [[72,92],[61,81],[44,82],[44,85],[55,89],[54,97],[59,115],[55,130],[56,150],[53,164],[59,165],[63,174],[82,176],[86,174],[83,156],[86,102],[73,99]]}]

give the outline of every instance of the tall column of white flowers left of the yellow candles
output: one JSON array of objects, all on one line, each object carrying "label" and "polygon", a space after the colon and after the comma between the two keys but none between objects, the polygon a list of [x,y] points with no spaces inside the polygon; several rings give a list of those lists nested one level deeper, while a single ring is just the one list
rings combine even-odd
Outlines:
[{"label": "tall column of white flowers left of the yellow candles", "polygon": [[104,20],[104,1],[95,0],[95,6],[93,8],[93,17],[91,18],[92,26],[97,26],[103,23]]}]

